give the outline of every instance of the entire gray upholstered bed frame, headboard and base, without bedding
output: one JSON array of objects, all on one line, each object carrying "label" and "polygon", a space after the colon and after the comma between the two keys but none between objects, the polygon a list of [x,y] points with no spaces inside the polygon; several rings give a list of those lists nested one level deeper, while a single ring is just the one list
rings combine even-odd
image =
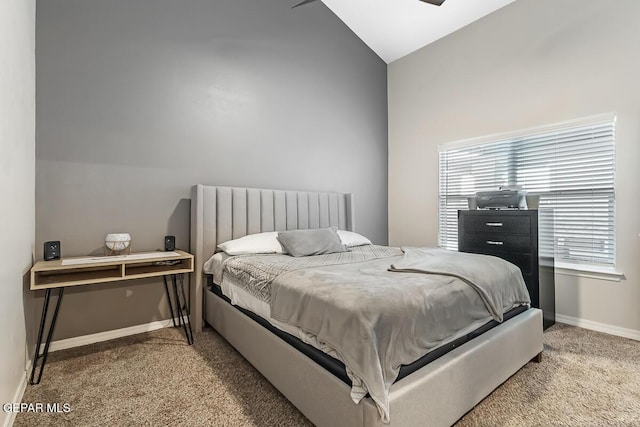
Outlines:
[{"label": "entire gray upholstered bed frame, headboard and base, without bedding", "polygon": [[353,197],[197,185],[192,189],[192,322],[215,328],[305,416],[319,426],[451,425],[542,352],[542,314],[524,310],[391,385],[390,422],[370,397],[229,304],[206,286],[203,264],[218,244],[274,230],[353,230]]}]

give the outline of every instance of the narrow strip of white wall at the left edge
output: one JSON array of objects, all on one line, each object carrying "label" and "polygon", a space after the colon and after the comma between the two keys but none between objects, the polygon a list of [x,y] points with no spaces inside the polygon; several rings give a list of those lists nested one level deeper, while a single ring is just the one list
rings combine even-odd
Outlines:
[{"label": "narrow strip of white wall at the left edge", "polygon": [[[35,237],[35,0],[0,2],[0,403],[20,398]],[[25,315],[26,313],[26,315]],[[0,425],[10,414],[0,410]]]}]

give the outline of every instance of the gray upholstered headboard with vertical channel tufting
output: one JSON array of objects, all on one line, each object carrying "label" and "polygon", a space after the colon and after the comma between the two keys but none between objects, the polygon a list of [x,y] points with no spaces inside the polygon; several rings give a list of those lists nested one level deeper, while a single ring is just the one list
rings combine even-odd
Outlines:
[{"label": "gray upholstered headboard with vertical channel tufting", "polygon": [[202,329],[202,265],[219,243],[247,234],[336,226],[353,231],[349,193],[195,185],[191,188],[191,321]]}]

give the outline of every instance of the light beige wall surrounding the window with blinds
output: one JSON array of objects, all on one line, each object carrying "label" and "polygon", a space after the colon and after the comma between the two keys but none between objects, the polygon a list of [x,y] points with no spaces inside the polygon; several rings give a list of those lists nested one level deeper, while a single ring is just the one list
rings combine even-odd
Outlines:
[{"label": "light beige wall surrounding the window with blinds", "polygon": [[389,243],[437,244],[438,144],[617,112],[626,279],[556,275],[557,312],[640,338],[639,16],[637,0],[519,0],[390,64]]}]

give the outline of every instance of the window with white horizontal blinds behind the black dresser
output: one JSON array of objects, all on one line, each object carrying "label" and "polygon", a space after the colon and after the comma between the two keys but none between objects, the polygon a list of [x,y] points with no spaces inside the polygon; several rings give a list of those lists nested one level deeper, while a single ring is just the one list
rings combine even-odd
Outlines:
[{"label": "window with white horizontal blinds behind the black dresser", "polygon": [[551,208],[555,258],[571,264],[615,265],[615,115],[446,144],[439,156],[440,246],[457,249],[458,209],[477,191],[519,185]]}]

